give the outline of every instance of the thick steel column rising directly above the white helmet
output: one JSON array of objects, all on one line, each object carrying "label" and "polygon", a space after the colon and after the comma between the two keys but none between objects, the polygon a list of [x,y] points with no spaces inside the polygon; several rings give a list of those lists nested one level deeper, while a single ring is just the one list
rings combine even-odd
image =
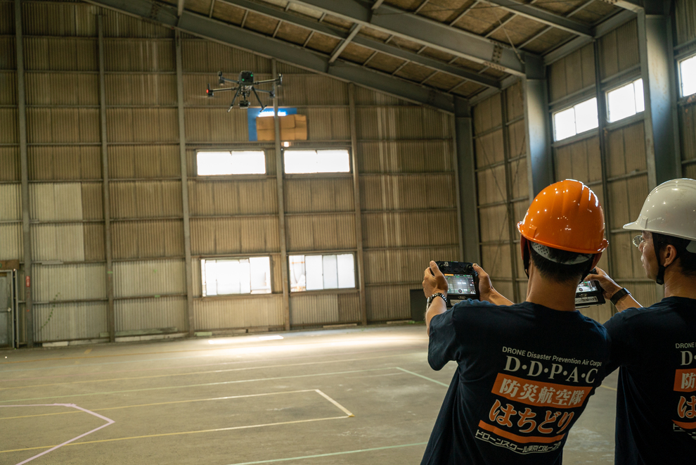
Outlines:
[{"label": "thick steel column rising directly above the white helmet", "polygon": [[681,177],[674,75],[674,41],[669,2],[647,0],[638,12],[638,51],[645,96],[647,187]]}]

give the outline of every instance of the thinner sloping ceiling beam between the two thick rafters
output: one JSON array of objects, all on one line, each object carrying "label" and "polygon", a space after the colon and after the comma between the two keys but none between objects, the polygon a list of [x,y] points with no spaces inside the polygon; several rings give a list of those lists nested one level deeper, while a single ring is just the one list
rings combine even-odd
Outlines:
[{"label": "thinner sloping ceiling beam between the two thick rafters", "polygon": [[[307,16],[296,15],[295,13],[292,13],[292,12],[281,11],[278,8],[273,8],[272,6],[257,4],[255,2],[249,1],[249,0],[217,0],[217,1],[221,2],[221,3],[240,6],[241,8],[245,8],[247,11],[254,11],[254,13],[260,13],[264,16],[268,16],[269,18],[281,20],[281,21],[284,21],[285,23],[292,23],[294,25],[309,29],[313,32],[321,32],[321,34],[328,35],[329,37],[333,37],[335,39],[340,39],[340,40],[344,41],[345,39],[347,39],[349,37],[349,32],[345,32],[344,30],[340,30],[337,27],[330,26],[326,23],[319,23],[316,20],[313,20],[311,18],[307,18]],[[358,44],[360,46],[363,46],[366,49],[370,49],[372,51],[378,51],[380,53],[385,53],[386,55],[401,58],[402,60],[412,61],[413,63],[417,63],[418,65],[423,65],[427,68],[431,68],[432,70],[438,70],[439,72],[444,72],[447,75],[451,75],[454,77],[460,77],[461,79],[468,79],[472,82],[476,82],[477,84],[481,84],[481,85],[486,86],[486,87],[500,89],[500,83],[498,82],[497,79],[494,79],[492,77],[482,76],[482,75],[477,74],[474,71],[468,71],[468,70],[465,70],[465,69],[460,68],[458,66],[453,66],[453,65],[450,65],[448,63],[443,63],[440,60],[436,60],[434,58],[423,56],[423,55],[420,55],[419,53],[415,53],[413,51],[409,51],[406,49],[400,49],[397,46],[391,46],[391,45],[385,44],[385,42],[380,42],[378,40],[370,39],[369,37],[365,37],[365,36],[361,36],[361,35],[356,35],[353,38],[352,42],[354,42],[354,44]],[[305,44],[305,45],[307,45],[307,44]],[[363,63],[363,65],[365,65],[365,64],[366,63]]]}]

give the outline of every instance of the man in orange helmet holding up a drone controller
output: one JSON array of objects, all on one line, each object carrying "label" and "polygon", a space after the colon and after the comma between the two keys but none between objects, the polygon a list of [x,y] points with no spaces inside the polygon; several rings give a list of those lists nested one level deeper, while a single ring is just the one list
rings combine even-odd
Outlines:
[{"label": "man in orange helmet holding up a drone controller", "polygon": [[607,247],[595,193],[565,180],[517,225],[529,276],[517,305],[479,273],[482,300],[446,309],[447,282],[425,269],[428,362],[458,364],[421,464],[560,464],[569,429],[603,378],[605,329],[575,310],[577,285]]}]

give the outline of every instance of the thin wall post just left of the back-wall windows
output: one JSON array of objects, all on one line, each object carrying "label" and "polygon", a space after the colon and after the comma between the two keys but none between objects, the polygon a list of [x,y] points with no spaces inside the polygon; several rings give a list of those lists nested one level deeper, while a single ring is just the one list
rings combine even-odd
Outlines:
[{"label": "thin wall post just left of the back-wall windows", "polygon": [[186,274],[186,317],[188,336],[193,337],[193,269],[191,269],[191,220],[188,215],[188,167],[186,163],[186,128],[183,121],[183,61],[181,58],[181,32],[174,31],[176,43],[176,110],[179,115],[179,161],[181,162],[181,210],[183,212],[183,269]]}]

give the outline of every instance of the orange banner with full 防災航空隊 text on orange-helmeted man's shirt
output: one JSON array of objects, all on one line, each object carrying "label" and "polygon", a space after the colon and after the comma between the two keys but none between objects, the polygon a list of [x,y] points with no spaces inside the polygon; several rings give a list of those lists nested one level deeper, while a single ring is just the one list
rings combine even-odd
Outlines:
[{"label": "orange banner with full \u9632\u707d\u822a\u7a7a\u968a text on orange-helmeted man's shirt", "polygon": [[591,390],[592,386],[565,386],[498,373],[491,393],[527,405],[574,409],[584,405]]}]

